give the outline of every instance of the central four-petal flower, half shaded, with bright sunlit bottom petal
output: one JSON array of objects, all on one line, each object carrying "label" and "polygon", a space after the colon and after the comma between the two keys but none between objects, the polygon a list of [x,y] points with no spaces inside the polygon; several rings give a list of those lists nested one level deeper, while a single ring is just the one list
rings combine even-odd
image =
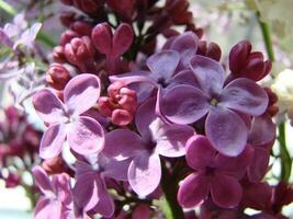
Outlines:
[{"label": "central four-petal flower, half shaded, with bright sunlit bottom petal", "polygon": [[155,115],[155,99],[142,104],[136,113],[140,134],[116,129],[105,136],[103,152],[116,160],[132,159],[127,177],[134,192],[146,196],[154,192],[161,177],[160,157],[184,155],[184,145],[194,134],[190,126],[165,124]]}]

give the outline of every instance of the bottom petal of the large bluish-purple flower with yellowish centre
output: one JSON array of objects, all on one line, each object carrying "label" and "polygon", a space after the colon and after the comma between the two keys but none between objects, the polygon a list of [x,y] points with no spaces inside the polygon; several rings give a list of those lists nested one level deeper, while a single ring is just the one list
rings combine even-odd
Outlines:
[{"label": "bottom petal of the large bluish-purple flower with yellowish centre", "polygon": [[211,110],[205,122],[206,137],[212,146],[229,157],[236,157],[244,151],[247,131],[244,120],[227,108]]}]

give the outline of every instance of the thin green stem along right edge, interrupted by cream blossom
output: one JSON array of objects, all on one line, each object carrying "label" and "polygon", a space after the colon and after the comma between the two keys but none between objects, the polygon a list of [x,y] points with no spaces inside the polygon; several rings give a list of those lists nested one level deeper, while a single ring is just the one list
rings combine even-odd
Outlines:
[{"label": "thin green stem along right edge, interrupted by cream blossom", "polygon": [[[269,59],[271,61],[274,61],[274,53],[273,53],[273,46],[272,46],[272,39],[271,39],[271,34],[270,34],[270,27],[266,22],[262,22],[260,20],[260,13],[257,12],[259,25],[261,28],[261,33],[263,36],[263,42],[266,45],[266,49],[269,56]],[[281,157],[281,175],[280,178],[283,181],[289,181],[290,175],[291,175],[291,169],[292,169],[292,160],[290,157],[290,153],[288,151],[286,147],[286,140],[285,140],[285,124],[281,123],[279,125],[279,136],[278,140],[280,143],[280,157]]]}]

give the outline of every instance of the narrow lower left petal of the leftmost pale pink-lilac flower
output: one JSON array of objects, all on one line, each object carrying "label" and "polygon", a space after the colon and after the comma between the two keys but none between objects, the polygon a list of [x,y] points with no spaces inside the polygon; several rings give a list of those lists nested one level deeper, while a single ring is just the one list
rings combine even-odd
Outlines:
[{"label": "narrow lower left petal of the leftmost pale pink-lilac flower", "polygon": [[50,125],[44,132],[40,145],[40,157],[43,159],[56,158],[66,138],[66,125]]}]

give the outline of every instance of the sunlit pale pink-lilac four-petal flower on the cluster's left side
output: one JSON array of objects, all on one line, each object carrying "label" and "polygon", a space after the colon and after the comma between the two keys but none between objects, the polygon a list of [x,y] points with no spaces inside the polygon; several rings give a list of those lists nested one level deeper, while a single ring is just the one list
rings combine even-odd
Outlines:
[{"label": "sunlit pale pink-lilac four-petal flower on the cluster's left side", "polygon": [[40,155],[43,159],[57,157],[65,139],[79,154],[90,154],[103,149],[102,126],[95,119],[81,115],[97,103],[100,89],[100,79],[86,73],[67,83],[64,103],[49,89],[43,89],[33,96],[36,112],[49,124],[40,146]]}]

